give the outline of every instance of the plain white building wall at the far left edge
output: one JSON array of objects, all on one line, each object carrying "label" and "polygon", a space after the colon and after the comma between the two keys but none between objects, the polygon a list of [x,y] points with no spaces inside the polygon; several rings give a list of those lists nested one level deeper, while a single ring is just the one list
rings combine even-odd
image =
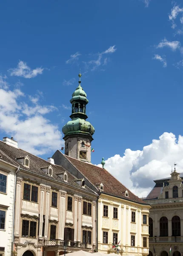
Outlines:
[{"label": "plain white building wall at the far left edge", "polygon": [[0,210],[6,212],[5,229],[0,229],[0,247],[5,247],[4,256],[11,256],[13,215],[14,215],[14,180],[16,168],[0,162],[0,174],[7,176],[6,193],[0,192]]}]

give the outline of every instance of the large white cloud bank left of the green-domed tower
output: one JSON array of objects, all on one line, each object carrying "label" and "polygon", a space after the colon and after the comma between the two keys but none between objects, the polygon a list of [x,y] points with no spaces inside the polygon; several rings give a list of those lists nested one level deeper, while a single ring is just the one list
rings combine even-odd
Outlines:
[{"label": "large white cloud bank left of the green-domed tower", "polygon": [[28,105],[23,101],[27,96],[19,89],[0,88],[0,95],[0,130],[5,136],[13,136],[20,148],[36,155],[60,148],[62,136],[57,125],[44,117],[54,106]]}]

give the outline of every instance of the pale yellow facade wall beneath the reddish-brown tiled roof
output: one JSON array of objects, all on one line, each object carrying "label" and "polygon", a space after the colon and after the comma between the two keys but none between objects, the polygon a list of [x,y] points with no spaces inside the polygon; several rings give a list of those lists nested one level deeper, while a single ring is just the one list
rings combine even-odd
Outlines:
[{"label": "pale yellow facade wall beneath the reddish-brown tiled roof", "polygon": [[[103,207],[108,206],[108,217],[104,216]],[[118,218],[113,218],[114,207],[117,208]],[[112,252],[113,233],[117,233],[120,253],[123,255],[149,254],[149,208],[145,206],[101,194],[98,202],[98,250],[104,253]],[[135,222],[132,222],[132,211],[135,212]],[[147,223],[143,224],[143,215]],[[103,243],[103,232],[108,233],[108,244]],[[135,244],[131,244],[131,236],[135,236]],[[143,247],[143,237],[147,238],[147,246]]]}]

